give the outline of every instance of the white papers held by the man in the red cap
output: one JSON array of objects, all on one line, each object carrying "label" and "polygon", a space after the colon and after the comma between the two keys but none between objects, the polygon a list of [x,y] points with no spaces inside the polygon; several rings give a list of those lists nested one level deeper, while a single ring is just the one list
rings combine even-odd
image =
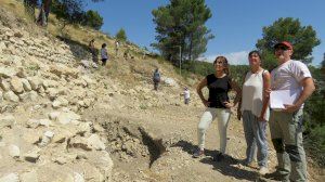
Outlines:
[{"label": "white papers held by the man in the red cap", "polygon": [[270,107],[272,109],[283,109],[284,104],[294,104],[300,95],[300,90],[272,90],[270,95]]}]

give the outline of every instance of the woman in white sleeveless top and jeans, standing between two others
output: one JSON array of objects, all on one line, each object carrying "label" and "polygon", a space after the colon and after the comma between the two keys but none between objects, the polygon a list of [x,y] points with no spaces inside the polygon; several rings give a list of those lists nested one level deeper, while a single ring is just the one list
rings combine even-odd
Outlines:
[{"label": "woman in white sleeveless top and jeans, standing between two others", "polygon": [[258,51],[248,54],[250,70],[245,76],[242,102],[238,107],[238,118],[243,116],[243,126],[247,143],[245,165],[250,166],[256,145],[259,173],[268,173],[268,141],[266,125],[269,120],[269,98],[265,91],[270,89],[270,73],[261,67],[261,56]]}]

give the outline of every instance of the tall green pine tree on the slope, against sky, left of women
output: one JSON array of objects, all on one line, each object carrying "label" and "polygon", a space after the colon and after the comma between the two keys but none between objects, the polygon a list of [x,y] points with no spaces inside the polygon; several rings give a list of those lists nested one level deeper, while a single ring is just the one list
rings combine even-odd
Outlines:
[{"label": "tall green pine tree on the slope, against sky, left of women", "polygon": [[196,60],[206,51],[208,40],[213,38],[205,26],[212,16],[205,0],[170,0],[170,4],[152,13],[157,32],[157,42],[152,46],[176,64],[180,57],[179,47],[182,60]]}]

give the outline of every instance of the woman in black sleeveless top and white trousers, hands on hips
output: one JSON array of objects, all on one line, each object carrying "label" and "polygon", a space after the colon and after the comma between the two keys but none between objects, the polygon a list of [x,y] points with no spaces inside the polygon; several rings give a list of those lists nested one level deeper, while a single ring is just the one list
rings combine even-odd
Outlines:
[{"label": "woman in black sleeveless top and white trousers, hands on hips", "polygon": [[[225,154],[226,128],[231,115],[230,108],[238,103],[240,98],[240,89],[229,76],[229,64],[224,56],[218,56],[213,62],[213,66],[216,73],[204,78],[197,87],[197,94],[207,108],[198,123],[198,150],[193,154],[193,157],[197,158],[204,155],[205,133],[210,123],[218,118],[220,152],[214,157],[214,160],[220,161],[224,158]],[[205,87],[209,89],[208,100],[205,99],[202,92],[203,88]],[[235,90],[236,92],[234,104],[232,104],[229,99],[229,92],[231,90]]]}]

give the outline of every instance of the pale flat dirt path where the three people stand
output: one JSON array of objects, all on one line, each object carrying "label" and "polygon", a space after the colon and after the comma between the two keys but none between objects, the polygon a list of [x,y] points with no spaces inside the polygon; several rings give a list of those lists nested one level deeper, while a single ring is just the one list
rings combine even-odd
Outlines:
[{"label": "pale flat dirt path where the three people stand", "polygon": [[[204,107],[181,105],[141,110],[95,110],[98,114],[92,113],[91,116],[98,115],[99,121],[127,120],[128,126],[143,127],[151,138],[161,140],[166,147],[154,159],[150,156],[126,157],[113,153],[115,181],[255,181],[257,178],[257,169],[240,165],[245,158],[246,144],[242,123],[233,116],[227,130],[227,157],[217,162],[212,160],[219,148],[216,121],[207,132],[206,156],[192,158],[197,144],[196,128]],[[101,118],[101,113],[106,113],[109,118]],[[274,152],[270,152],[272,169],[274,164],[271,161],[275,161],[275,158],[272,155]]]}]

